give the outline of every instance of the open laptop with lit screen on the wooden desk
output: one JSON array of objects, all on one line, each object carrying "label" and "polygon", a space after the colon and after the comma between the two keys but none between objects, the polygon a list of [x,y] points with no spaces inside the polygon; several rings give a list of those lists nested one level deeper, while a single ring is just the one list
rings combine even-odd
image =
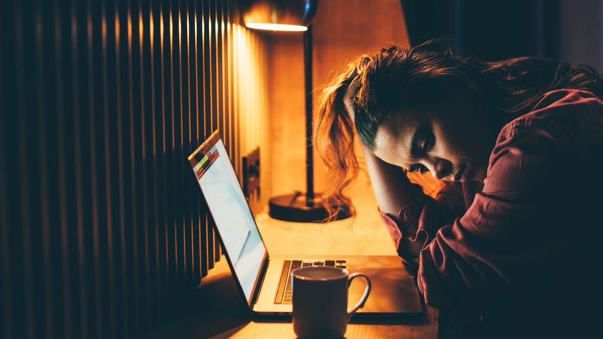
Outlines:
[{"label": "open laptop with lit screen on the wooden desk", "polygon": [[[398,256],[268,255],[218,131],[188,160],[215,221],[239,293],[252,314],[291,315],[291,270],[304,266],[344,267],[350,273],[367,274],[371,293],[356,314],[421,314],[417,285]],[[364,287],[364,280],[352,281],[349,308],[360,300]]]}]

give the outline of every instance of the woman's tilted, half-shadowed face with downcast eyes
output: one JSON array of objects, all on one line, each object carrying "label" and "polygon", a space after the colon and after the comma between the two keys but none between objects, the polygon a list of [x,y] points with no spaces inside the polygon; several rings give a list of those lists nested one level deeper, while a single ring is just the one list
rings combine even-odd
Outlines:
[{"label": "woman's tilted, half-shadowed face with downcast eyes", "polygon": [[484,180],[496,142],[477,106],[458,95],[403,110],[377,131],[374,155],[437,180]]}]

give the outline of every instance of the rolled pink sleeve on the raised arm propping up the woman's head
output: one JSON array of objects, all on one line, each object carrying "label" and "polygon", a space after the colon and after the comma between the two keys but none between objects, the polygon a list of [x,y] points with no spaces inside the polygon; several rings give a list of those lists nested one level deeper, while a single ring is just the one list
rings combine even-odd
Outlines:
[{"label": "rolled pink sleeve on the raised arm propping up the woman's head", "polygon": [[434,239],[438,229],[452,223],[456,216],[466,211],[466,208],[461,183],[444,183],[435,199],[425,194],[420,185],[414,185],[420,194],[415,200],[400,209],[396,220],[380,211],[379,215],[394,241],[398,255],[418,268],[419,258],[412,258],[400,247],[402,237],[413,242],[423,241],[423,247],[425,247]]}]

